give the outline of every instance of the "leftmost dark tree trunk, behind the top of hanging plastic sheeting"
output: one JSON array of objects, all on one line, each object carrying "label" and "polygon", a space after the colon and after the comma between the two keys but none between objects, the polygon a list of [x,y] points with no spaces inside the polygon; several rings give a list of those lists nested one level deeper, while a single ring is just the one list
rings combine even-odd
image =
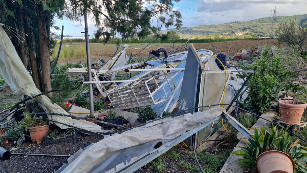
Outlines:
[{"label": "leftmost dark tree trunk, behind the top of hanging plastic sheeting", "polygon": [[20,42],[19,44],[19,56],[20,56],[20,59],[23,63],[23,65],[25,66],[25,69],[27,69],[28,67],[28,63],[27,63],[27,56],[25,54],[25,40],[23,38],[25,38],[25,34],[24,34],[24,22],[23,22],[23,18],[22,18],[22,15],[23,15],[23,11],[22,11],[22,8],[21,6],[18,7],[18,12],[19,12],[19,21],[20,21],[20,35],[22,38],[20,38],[23,42]]}]

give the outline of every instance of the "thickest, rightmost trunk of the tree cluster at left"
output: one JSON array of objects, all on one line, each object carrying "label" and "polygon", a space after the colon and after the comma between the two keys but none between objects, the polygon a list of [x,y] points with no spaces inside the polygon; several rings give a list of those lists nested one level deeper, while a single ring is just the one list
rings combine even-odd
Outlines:
[{"label": "thickest, rightmost trunk of the tree cluster at left", "polygon": [[[52,90],[51,88],[51,72],[50,72],[50,54],[49,54],[49,42],[50,37],[47,34],[46,20],[48,14],[43,11],[41,5],[37,8],[37,22],[38,22],[38,45],[39,53],[41,57],[41,69],[42,69],[42,86],[44,92]],[[47,96],[51,97],[49,93]]]}]

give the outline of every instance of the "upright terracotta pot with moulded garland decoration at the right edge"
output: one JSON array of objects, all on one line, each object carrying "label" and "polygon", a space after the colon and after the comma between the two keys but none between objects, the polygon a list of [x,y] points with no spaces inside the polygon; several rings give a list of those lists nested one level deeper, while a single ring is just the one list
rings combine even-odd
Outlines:
[{"label": "upright terracotta pot with moulded garland decoration at the right edge", "polygon": [[[294,104],[290,104],[292,102],[294,102]],[[290,124],[299,124],[301,122],[307,104],[304,102],[296,103],[296,101],[289,102],[289,100],[281,100],[278,102],[282,113],[282,121]]]}]

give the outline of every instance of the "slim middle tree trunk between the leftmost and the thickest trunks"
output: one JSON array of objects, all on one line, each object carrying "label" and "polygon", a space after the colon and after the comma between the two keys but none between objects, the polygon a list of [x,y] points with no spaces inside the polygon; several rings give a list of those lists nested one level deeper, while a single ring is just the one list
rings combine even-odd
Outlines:
[{"label": "slim middle tree trunk between the leftmost and the thickest trunks", "polygon": [[32,79],[33,79],[35,86],[40,91],[43,91],[41,87],[41,82],[38,77],[38,69],[37,69],[37,62],[36,62],[37,60],[36,60],[35,52],[32,47],[32,37],[30,33],[30,27],[29,27],[30,25],[29,25],[27,15],[24,15],[23,19],[24,19],[25,33],[28,34],[26,38],[27,38],[29,58],[30,58],[30,63],[31,63]]}]

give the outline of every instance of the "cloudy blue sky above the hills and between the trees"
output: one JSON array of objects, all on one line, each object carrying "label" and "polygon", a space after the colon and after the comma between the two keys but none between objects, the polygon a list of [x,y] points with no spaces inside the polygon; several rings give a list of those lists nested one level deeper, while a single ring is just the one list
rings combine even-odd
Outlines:
[{"label": "cloudy blue sky above the hills and between the trees", "polygon": [[[173,8],[182,15],[182,27],[205,24],[223,24],[235,21],[249,21],[270,17],[276,7],[276,16],[290,16],[307,13],[306,0],[181,0]],[[89,15],[90,19],[92,15]],[[64,25],[64,35],[84,37],[84,18],[80,21],[56,19],[56,26]],[[155,22],[155,25],[157,23]],[[95,22],[88,20],[90,38],[96,28]],[[173,28],[172,26],[170,28]],[[165,30],[162,27],[162,30]],[[61,31],[52,29],[60,34]]]}]

